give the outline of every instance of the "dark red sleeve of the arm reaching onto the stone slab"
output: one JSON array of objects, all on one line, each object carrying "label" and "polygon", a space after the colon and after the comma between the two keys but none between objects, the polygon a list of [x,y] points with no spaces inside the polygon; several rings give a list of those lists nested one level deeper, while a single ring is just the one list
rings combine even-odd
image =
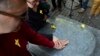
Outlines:
[{"label": "dark red sleeve of the arm reaching onto the stone slab", "polygon": [[29,42],[33,44],[42,45],[49,48],[54,47],[53,41],[50,41],[47,37],[35,32],[30,28],[30,26],[27,25],[26,22],[23,22],[21,24],[20,32],[26,37]]}]

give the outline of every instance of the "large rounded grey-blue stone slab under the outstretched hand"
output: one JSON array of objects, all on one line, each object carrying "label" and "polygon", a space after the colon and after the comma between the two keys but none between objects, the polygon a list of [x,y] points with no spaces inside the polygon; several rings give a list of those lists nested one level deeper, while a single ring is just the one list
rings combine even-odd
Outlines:
[{"label": "large rounded grey-blue stone slab under the outstretched hand", "polygon": [[70,43],[62,50],[29,44],[28,49],[31,53],[37,56],[90,56],[93,53],[96,41],[91,27],[63,16],[58,16],[54,24],[57,29],[53,35],[60,39],[68,39]]}]

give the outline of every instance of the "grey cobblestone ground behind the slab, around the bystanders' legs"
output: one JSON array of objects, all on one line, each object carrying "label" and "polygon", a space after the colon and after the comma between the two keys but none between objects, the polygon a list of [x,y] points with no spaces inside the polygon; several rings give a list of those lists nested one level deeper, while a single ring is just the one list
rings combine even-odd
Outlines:
[{"label": "grey cobblestone ground behind the slab, around the bystanders' legs", "polygon": [[[51,12],[50,15],[51,15],[51,18],[54,18],[56,17],[57,15],[61,14],[63,16],[66,16],[68,17],[69,14],[70,14],[70,7],[71,7],[71,4],[72,4],[72,1],[71,0],[65,0],[66,1],[66,6],[62,8],[62,11],[54,11],[54,12]],[[49,4],[51,5],[51,0],[49,0]],[[73,11],[72,11],[72,18],[73,20],[77,20],[79,22],[82,22],[82,23],[85,23],[89,26],[92,26],[94,28],[98,28],[100,29],[100,15],[97,16],[96,18],[93,18],[93,19],[88,19],[89,17],[89,13],[90,13],[90,9],[91,9],[91,0],[89,1],[89,4],[88,4],[88,9],[84,12],[84,13],[78,13],[78,10],[79,9],[75,9],[74,7],[77,5],[77,2],[74,1],[74,5],[73,5]],[[62,4],[63,5],[63,4]],[[51,5],[51,8],[52,8],[52,5]]]}]

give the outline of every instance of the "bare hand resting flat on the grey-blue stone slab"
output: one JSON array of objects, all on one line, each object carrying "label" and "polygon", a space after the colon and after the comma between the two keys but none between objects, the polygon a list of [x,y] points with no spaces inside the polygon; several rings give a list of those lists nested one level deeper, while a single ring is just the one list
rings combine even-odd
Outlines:
[{"label": "bare hand resting flat on the grey-blue stone slab", "polygon": [[69,43],[68,40],[59,40],[57,37],[53,37],[53,42],[54,42],[54,48],[55,49],[63,49],[66,47],[66,45]]}]

